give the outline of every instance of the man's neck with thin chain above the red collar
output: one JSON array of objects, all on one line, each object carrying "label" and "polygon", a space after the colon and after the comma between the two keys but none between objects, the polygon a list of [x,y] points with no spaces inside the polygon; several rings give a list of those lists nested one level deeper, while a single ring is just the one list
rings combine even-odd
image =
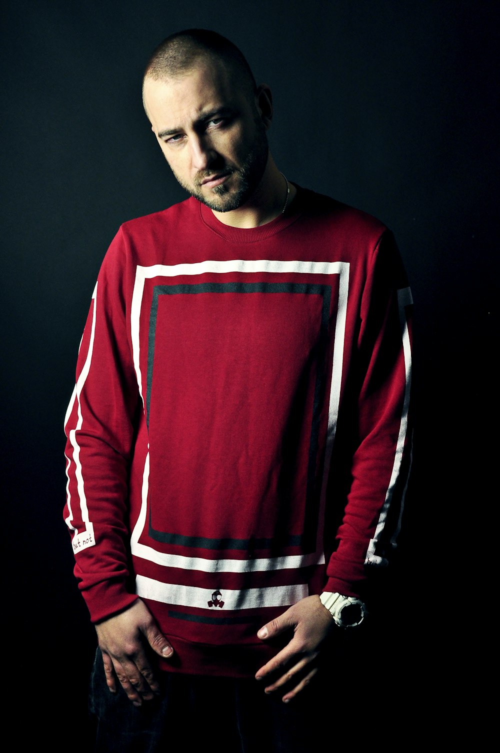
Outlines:
[{"label": "man's neck with thin chain above the red collar", "polygon": [[269,155],[264,175],[248,201],[232,212],[215,212],[213,209],[212,212],[230,227],[259,227],[279,217],[285,204],[288,209],[296,193],[297,189],[288,183]]}]

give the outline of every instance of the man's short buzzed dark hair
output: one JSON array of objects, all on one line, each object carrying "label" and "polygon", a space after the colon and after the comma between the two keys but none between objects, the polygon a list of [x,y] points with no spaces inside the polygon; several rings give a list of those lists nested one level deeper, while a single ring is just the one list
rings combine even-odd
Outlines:
[{"label": "man's short buzzed dark hair", "polygon": [[194,69],[197,60],[203,58],[218,59],[230,66],[239,83],[255,94],[255,78],[241,50],[229,39],[208,29],[185,29],[164,39],[151,55],[144,79],[175,78]]}]

